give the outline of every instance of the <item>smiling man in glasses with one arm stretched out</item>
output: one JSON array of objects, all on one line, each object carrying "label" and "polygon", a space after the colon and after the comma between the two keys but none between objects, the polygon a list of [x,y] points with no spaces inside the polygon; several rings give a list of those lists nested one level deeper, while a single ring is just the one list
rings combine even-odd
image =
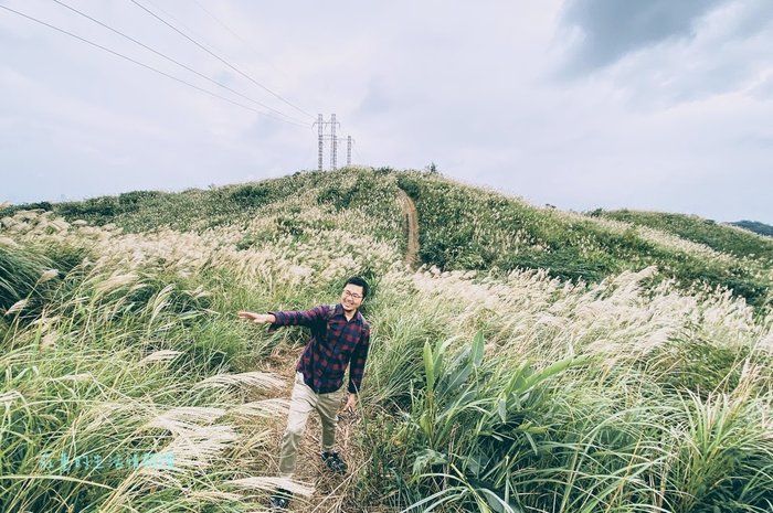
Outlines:
[{"label": "smiling man in glasses with one arm stretched out", "polygon": [[[319,413],[322,424],[322,461],[335,472],[347,471],[346,462],[333,450],[336,426],[343,393],[343,373],[349,363],[345,409],[353,412],[357,408],[357,394],[370,346],[370,324],[359,312],[367,297],[368,282],[352,276],[343,286],[341,301],[335,306],[320,304],[305,311],[239,312],[241,319],[271,324],[269,332],[283,325],[311,329],[311,338],[296,365],[287,428],[282,436],[279,473],[283,478],[292,478],[295,471],[298,445],[313,409]],[[279,489],[271,499],[272,506],[286,509],[289,498],[287,490]]]}]

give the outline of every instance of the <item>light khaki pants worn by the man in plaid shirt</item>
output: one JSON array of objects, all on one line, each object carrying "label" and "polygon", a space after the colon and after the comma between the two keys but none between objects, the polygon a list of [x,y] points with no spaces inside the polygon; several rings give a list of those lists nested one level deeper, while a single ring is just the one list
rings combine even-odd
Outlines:
[{"label": "light khaki pants worn by the man in plaid shirt", "polygon": [[343,387],[329,394],[315,394],[304,383],[304,375],[295,374],[295,385],[290,397],[290,408],[287,416],[287,428],[282,436],[279,449],[279,474],[289,478],[295,471],[295,461],[298,457],[298,445],[306,429],[306,421],[313,409],[319,413],[322,424],[322,451],[331,451],[336,443],[336,426],[338,424],[338,409],[343,397]]}]

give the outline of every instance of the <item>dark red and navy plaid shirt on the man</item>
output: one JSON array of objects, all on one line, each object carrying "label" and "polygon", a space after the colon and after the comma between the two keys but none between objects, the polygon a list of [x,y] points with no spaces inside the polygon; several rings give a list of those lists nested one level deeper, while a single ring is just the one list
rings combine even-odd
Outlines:
[{"label": "dark red and navy plaid shirt on the man", "polygon": [[370,324],[357,311],[350,321],[343,314],[343,307],[319,304],[304,311],[268,312],[276,322],[268,327],[272,332],[283,325],[304,325],[311,329],[296,371],[304,375],[304,382],[316,393],[336,392],[343,384],[343,373],[349,367],[349,392],[357,393],[362,383],[366,359],[370,346]]}]

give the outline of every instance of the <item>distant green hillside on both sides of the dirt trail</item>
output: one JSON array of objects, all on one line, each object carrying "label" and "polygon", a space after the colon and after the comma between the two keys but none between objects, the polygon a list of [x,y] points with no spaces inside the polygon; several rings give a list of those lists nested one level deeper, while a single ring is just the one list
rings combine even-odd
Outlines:
[{"label": "distant green hillside on both sides of the dirt trail", "polygon": [[[208,191],[139,191],[85,202],[20,205],[7,213],[42,206],[70,221],[110,223],[133,233],[159,227],[201,233],[263,218],[265,229],[246,231],[239,247],[280,236],[306,242],[320,229],[346,229],[404,253],[403,214],[394,200],[401,189],[417,207],[419,264],[504,274],[546,269],[560,279],[586,282],[655,266],[659,272],[648,280],[653,286],[673,279],[684,290],[724,288],[758,308],[772,304],[773,241],[765,237],[697,216],[631,211],[580,215],[543,209],[434,173],[305,172]],[[316,212],[301,212],[304,202]],[[351,210],[368,221],[348,222]]]}]

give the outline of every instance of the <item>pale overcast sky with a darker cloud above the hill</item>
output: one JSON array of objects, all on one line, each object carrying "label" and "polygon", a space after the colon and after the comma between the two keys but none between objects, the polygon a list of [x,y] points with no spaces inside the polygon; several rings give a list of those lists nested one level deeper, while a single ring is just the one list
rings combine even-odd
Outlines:
[{"label": "pale overcast sky with a darker cloud above the hill", "polygon": [[352,163],[773,224],[771,49],[770,0],[0,0],[0,202],[316,169],[336,113]]}]

